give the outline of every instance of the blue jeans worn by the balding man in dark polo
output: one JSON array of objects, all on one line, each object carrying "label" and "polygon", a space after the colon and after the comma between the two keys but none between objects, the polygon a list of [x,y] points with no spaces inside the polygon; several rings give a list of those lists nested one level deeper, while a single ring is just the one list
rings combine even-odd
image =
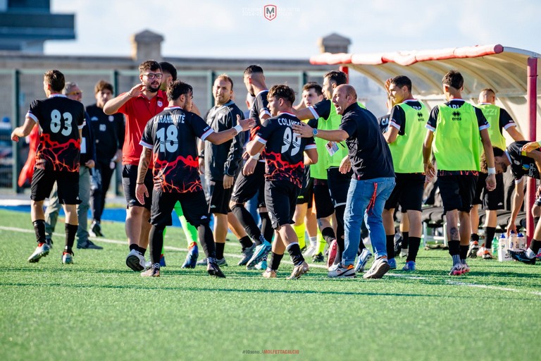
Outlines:
[{"label": "blue jeans worn by the balding man in dark polo", "polygon": [[387,256],[385,229],[381,213],[393,188],[394,177],[373,178],[366,181],[352,179],[349,183],[344,214],[345,249],[342,253],[344,265],[347,266],[355,262],[361,240],[363,217],[375,258]]}]

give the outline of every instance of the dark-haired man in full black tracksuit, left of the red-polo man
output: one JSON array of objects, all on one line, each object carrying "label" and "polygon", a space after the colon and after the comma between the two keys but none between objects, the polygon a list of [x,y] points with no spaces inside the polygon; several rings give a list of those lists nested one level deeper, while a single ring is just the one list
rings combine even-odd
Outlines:
[{"label": "dark-haired man in full black tracksuit, left of the red-polo man", "polygon": [[87,106],[89,124],[96,142],[96,165],[92,174],[92,226],[90,234],[94,237],[104,237],[101,233],[101,214],[104,212],[105,196],[116,162],[122,160],[124,145],[124,117],[122,114],[108,116],[104,113],[104,105],[113,97],[113,85],[105,80],[99,80],[94,87],[96,104]]}]

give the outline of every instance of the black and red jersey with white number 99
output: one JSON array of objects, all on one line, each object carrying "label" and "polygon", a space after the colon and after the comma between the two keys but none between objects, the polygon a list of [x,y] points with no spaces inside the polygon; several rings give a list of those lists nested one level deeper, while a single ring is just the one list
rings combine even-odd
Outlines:
[{"label": "black and red jersey with white number 99", "polygon": [[304,149],[316,149],[313,137],[301,138],[291,126],[299,118],[282,113],[263,121],[256,140],[265,145],[267,181],[290,181],[301,188],[304,176]]}]

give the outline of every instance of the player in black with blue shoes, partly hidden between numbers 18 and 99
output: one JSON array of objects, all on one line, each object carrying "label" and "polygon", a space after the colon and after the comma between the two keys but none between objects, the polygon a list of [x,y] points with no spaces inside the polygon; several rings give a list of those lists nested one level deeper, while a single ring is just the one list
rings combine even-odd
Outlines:
[{"label": "player in black with blue shoes, partly hidden between numbers 18 and 99", "polygon": [[[268,88],[261,66],[251,65],[244,70],[244,85],[249,94],[255,97],[250,109],[250,118],[256,120],[256,126],[250,132],[250,140],[253,140],[261,123],[265,119],[270,118],[270,111],[267,108]],[[255,154],[247,159],[242,173],[240,173],[235,182],[230,202],[233,213],[237,216],[240,224],[242,224],[251,239],[256,243],[254,253],[247,262],[247,268],[249,269],[255,267],[256,264],[265,259],[270,251],[270,238],[273,237],[273,228],[268,218],[264,199],[265,161],[263,157],[260,159],[260,155]],[[251,200],[258,191],[258,210],[261,217],[261,230],[257,226],[254,217],[244,207],[244,203]]]}]

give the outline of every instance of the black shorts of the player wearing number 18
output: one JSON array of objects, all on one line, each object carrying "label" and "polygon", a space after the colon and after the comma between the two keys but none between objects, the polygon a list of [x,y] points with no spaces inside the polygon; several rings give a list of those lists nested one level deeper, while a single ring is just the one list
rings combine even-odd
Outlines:
[{"label": "black shorts of the player wearing number 18", "polygon": [[180,202],[182,212],[189,224],[198,227],[201,224],[209,224],[209,206],[206,204],[205,192],[169,193],[154,190],[152,192],[152,209],[150,224],[158,228],[165,228],[173,224],[171,212],[175,204]]}]

